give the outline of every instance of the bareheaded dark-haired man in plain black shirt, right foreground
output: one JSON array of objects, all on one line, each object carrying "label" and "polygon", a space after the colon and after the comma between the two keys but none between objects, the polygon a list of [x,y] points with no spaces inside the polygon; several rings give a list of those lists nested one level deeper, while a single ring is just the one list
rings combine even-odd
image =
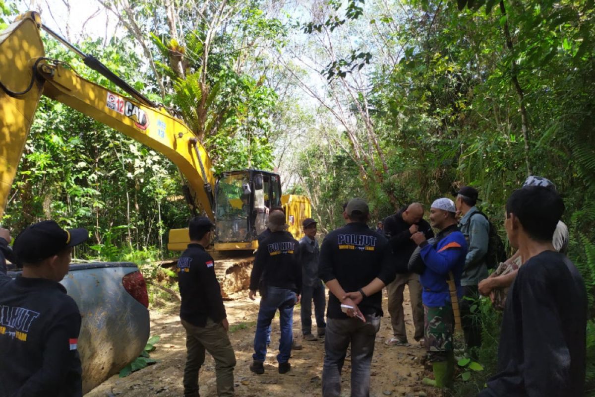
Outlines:
[{"label": "bareheaded dark-haired man in plain black shirt, right foreground", "polygon": [[587,292],[552,244],[563,210],[543,186],[515,190],[506,203],[506,235],[524,265],[506,298],[498,373],[480,397],[584,395]]}]

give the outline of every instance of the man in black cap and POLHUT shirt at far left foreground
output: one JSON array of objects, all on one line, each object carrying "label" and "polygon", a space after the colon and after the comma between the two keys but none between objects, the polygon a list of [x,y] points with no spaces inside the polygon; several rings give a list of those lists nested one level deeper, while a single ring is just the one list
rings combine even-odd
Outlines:
[{"label": "man in black cap and POLHUT shirt at far left foreground", "polygon": [[[13,245],[23,273],[0,271],[0,396],[82,396],[77,340],[81,317],[60,280],[85,229],[54,221],[27,227]],[[4,240],[10,236],[0,235]]]}]

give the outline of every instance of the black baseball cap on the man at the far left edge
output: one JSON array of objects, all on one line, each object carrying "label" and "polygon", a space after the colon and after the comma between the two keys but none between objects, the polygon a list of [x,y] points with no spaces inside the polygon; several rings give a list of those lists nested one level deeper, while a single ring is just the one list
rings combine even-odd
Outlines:
[{"label": "black baseball cap on the man at the far left edge", "polygon": [[27,226],[14,240],[12,253],[19,264],[37,263],[89,239],[87,229],[62,229],[55,221]]}]

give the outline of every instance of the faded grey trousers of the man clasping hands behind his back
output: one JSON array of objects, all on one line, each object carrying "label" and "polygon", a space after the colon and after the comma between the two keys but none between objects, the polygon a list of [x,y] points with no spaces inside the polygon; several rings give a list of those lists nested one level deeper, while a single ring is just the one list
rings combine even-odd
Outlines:
[{"label": "faded grey trousers of the man clasping hands behind his back", "polygon": [[351,344],[351,397],[368,397],[374,340],[380,329],[380,316],[327,318],[322,366],[322,397],[340,397],[341,371]]}]

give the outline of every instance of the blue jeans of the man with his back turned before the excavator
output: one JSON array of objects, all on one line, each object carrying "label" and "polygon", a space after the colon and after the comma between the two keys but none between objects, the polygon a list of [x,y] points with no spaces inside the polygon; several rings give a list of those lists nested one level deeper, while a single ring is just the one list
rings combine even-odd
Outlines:
[{"label": "blue jeans of the man with his back turned before the excavator", "polygon": [[256,335],[254,336],[255,361],[264,362],[267,357],[267,333],[275,312],[279,310],[279,327],[281,338],[279,340],[279,354],[277,361],[287,362],[292,355],[293,341],[293,307],[296,304],[296,293],[290,289],[267,287],[267,296],[261,298],[258,320],[256,320]]}]

